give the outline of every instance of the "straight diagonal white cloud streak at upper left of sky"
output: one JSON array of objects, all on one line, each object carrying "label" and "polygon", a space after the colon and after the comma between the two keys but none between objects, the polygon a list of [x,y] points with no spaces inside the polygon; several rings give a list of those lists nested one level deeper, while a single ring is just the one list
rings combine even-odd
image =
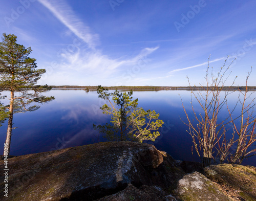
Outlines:
[{"label": "straight diagonal white cloud streak at upper left of sky", "polygon": [[53,15],[78,38],[86,42],[89,48],[95,49],[95,46],[99,43],[98,34],[92,33],[90,27],[86,26],[83,21],[75,15],[72,8],[70,8],[65,0],[38,0],[38,2],[49,9]]}]

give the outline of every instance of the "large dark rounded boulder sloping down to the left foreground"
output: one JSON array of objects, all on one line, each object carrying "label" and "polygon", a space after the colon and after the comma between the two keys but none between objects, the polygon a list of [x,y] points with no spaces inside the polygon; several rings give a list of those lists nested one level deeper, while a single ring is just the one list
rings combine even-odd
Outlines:
[{"label": "large dark rounded boulder sloping down to the left foreground", "polygon": [[[94,200],[117,193],[130,183],[167,188],[184,174],[170,155],[153,145],[133,142],[22,155],[8,163],[10,188],[5,200],[12,201]],[[0,168],[4,169],[3,165]]]}]

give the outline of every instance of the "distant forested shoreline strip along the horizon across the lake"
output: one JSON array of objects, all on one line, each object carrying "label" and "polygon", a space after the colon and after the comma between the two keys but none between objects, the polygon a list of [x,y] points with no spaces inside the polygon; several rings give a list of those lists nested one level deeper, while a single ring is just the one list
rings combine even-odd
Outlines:
[{"label": "distant forested shoreline strip along the horizon across the lake", "polygon": [[[52,88],[56,89],[71,89],[77,88],[81,90],[97,90],[98,86],[77,86],[77,85],[62,85],[62,86],[55,86],[52,85]],[[104,88],[108,88],[109,90],[204,90],[206,86],[104,86]],[[245,90],[245,86],[224,86],[223,90]],[[256,86],[247,86],[248,90],[256,90]]]}]

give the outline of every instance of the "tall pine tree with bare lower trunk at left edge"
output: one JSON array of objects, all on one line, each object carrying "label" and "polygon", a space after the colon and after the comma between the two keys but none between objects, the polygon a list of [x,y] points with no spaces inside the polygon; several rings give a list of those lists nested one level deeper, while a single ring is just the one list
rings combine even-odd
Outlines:
[{"label": "tall pine tree with bare lower trunk at left edge", "polygon": [[16,43],[17,36],[3,34],[0,42],[0,88],[10,92],[10,104],[8,110],[8,127],[6,145],[10,153],[12,136],[13,114],[34,111],[38,104],[29,106],[32,102],[45,103],[54,100],[54,97],[43,96],[42,92],[48,92],[48,85],[36,85],[45,69],[36,69],[36,59],[30,58],[31,48],[25,48]]}]

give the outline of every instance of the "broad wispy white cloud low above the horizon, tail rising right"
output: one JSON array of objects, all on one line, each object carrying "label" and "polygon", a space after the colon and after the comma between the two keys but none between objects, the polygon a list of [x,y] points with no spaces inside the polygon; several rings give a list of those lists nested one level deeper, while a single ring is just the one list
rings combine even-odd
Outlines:
[{"label": "broad wispy white cloud low above the horizon, tail rising right", "polygon": [[[67,82],[71,85],[117,85],[123,80],[122,74],[131,66],[140,65],[142,60],[149,61],[148,55],[156,51],[155,48],[144,48],[136,56],[112,59],[99,50],[87,51],[78,49],[74,54],[61,54],[59,69],[47,74],[41,79],[53,85]],[[58,83],[58,84],[57,84]]]}]

